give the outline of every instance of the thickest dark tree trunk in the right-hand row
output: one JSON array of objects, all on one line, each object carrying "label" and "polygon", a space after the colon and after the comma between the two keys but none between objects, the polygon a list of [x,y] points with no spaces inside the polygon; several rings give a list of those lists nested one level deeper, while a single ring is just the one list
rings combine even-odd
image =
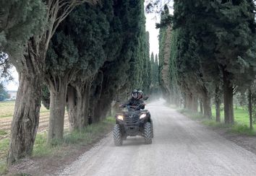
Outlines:
[{"label": "thickest dark tree trunk in the right-hand row", "polygon": [[223,71],[223,90],[225,123],[234,123],[233,86],[227,71]]}]

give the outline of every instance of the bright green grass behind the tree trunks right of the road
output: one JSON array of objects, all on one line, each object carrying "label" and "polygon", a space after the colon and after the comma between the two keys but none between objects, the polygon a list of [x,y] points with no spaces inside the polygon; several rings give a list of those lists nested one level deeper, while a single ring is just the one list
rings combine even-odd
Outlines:
[{"label": "bright green grass behind the tree trunks right of the road", "polygon": [[224,128],[228,133],[238,133],[246,136],[256,136],[256,124],[253,125],[253,129],[249,129],[249,115],[246,110],[243,110],[242,107],[234,108],[234,124],[225,124],[224,123],[224,112],[223,107],[221,107],[221,123],[216,122],[216,111],[215,107],[212,108],[213,117],[205,118],[200,113],[193,113],[189,110],[181,109],[178,110],[179,113],[187,115],[192,120],[200,121],[200,123],[205,126],[210,126],[212,128]]}]

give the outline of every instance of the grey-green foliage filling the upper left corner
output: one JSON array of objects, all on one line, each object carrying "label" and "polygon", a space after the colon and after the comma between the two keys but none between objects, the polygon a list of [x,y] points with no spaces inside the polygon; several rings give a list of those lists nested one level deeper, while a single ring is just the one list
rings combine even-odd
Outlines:
[{"label": "grey-green foliage filling the upper left corner", "polygon": [[46,25],[46,5],[41,0],[3,0],[0,12],[0,50],[22,56],[27,40]]}]

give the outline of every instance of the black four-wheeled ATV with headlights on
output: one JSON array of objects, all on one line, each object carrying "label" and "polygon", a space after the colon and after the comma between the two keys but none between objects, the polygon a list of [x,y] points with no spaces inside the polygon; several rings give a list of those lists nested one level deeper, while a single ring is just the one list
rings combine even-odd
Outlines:
[{"label": "black four-wheeled ATV with headlights on", "polygon": [[135,109],[130,106],[123,113],[116,113],[116,125],[114,126],[114,144],[121,146],[127,136],[142,136],[145,144],[152,144],[153,121],[148,110],[140,110],[141,105]]}]

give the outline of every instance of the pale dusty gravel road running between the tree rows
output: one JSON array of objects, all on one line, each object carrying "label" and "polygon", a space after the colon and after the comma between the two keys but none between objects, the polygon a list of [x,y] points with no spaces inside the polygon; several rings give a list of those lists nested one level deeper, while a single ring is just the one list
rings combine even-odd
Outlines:
[{"label": "pale dusty gravel road running between the tree rows", "polygon": [[153,144],[128,137],[123,146],[114,146],[111,133],[59,175],[256,175],[255,154],[161,101],[147,108]]}]

